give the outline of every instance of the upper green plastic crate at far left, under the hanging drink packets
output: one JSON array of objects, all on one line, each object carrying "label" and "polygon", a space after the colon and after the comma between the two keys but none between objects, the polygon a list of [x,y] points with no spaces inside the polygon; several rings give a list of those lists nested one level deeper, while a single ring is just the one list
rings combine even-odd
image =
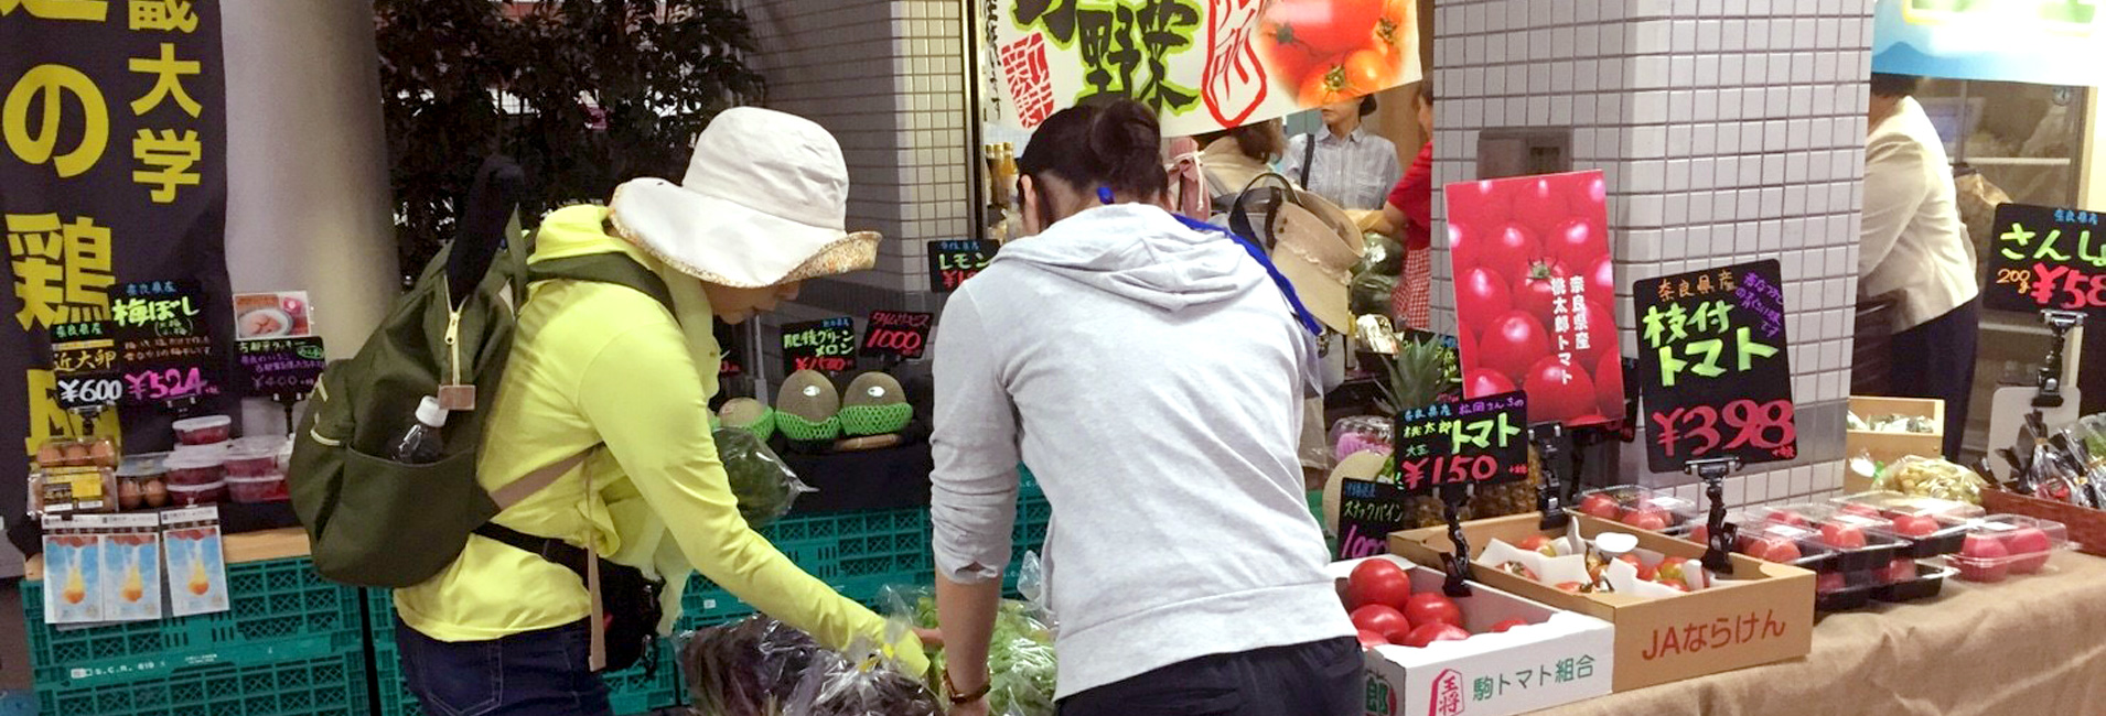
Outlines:
[{"label": "upper green plastic crate at far left, under the hanging drink packets", "polygon": [[322,581],[305,558],[227,564],[223,613],[99,628],[44,623],[44,583],[21,583],[38,691],[158,678],[208,663],[324,657],[356,644],[364,621],[358,590]]}]

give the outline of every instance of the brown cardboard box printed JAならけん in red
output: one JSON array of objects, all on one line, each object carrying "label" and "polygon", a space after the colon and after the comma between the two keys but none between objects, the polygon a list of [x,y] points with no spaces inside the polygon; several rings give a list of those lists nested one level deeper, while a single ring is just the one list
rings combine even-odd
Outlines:
[{"label": "brown cardboard box printed JA\u306a\u3089\u3051\u3093 in red", "polygon": [[[1472,558],[1493,539],[1523,543],[1539,529],[1542,516],[1464,522]],[[1617,531],[1638,537],[1638,548],[1668,556],[1702,558],[1693,541],[1573,514],[1580,535]],[[1419,564],[1441,564],[1441,554],[1453,552],[1447,526],[1415,529],[1390,535],[1390,552]],[[1702,592],[1668,598],[1628,594],[1569,594],[1552,585],[1478,564],[1478,581],[1615,623],[1615,691],[1666,684],[1683,678],[1731,672],[1740,668],[1805,657],[1813,651],[1813,573],[1733,554],[1733,573]]]}]

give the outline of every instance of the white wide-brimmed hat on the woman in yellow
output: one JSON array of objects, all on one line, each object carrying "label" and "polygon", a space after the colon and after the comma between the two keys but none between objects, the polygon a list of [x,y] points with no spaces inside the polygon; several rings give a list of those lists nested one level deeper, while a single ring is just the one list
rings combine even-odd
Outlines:
[{"label": "white wide-brimmed hat on the woman in yellow", "polygon": [[878,261],[878,234],[845,227],[840,143],[775,110],[724,110],[695,139],[680,183],[625,181],[609,208],[623,240],[720,286],[775,286]]}]

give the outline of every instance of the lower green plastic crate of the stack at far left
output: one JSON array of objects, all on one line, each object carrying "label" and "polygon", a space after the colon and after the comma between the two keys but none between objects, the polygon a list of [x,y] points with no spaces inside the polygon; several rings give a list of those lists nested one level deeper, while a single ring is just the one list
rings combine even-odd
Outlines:
[{"label": "lower green plastic crate of the stack at far left", "polygon": [[366,649],[263,663],[183,665],[156,678],[46,689],[42,714],[97,716],[343,716],[373,712]]}]

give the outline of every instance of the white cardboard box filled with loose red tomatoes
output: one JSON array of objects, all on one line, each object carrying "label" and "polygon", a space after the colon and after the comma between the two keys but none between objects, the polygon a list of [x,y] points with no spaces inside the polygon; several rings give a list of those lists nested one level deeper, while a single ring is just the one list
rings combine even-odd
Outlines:
[{"label": "white cardboard box filled with loose red tomatoes", "polygon": [[1615,638],[1603,619],[1487,585],[1451,600],[1441,573],[1396,556],[1335,562],[1331,575],[1348,606],[1360,602],[1354,623],[1373,644],[1367,716],[1508,716],[1611,689]]}]

